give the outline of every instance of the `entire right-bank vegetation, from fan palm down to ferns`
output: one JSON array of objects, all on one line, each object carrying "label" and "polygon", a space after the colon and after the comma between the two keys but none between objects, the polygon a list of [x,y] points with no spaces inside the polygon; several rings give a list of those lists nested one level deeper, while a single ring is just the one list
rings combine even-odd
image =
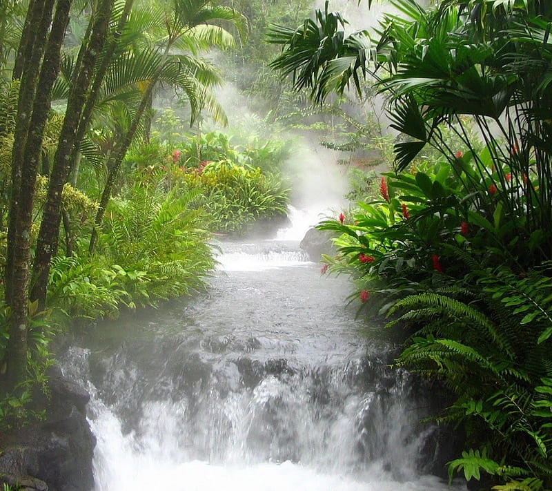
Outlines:
[{"label": "entire right-bank vegetation, from fan palm down to ferns", "polygon": [[549,490],[552,6],[393,6],[375,39],[345,35],[327,4],[270,34],[273,67],[318,103],[372,77],[399,133],[379,197],[319,224],[337,235],[326,261],[355,279],[362,309],[406,329],[397,365],[448,391],[437,421],[466,436],[451,478]]}]

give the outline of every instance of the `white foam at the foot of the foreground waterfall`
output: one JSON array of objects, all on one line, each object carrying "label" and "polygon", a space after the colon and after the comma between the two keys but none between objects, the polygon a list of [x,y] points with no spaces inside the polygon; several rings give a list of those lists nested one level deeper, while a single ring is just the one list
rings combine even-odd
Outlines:
[{"label": "white foam at the foot of the foreground waterfall", "polygon": [[179,461],[144,448],[133,434],[124,435],[119,420],[103,412],[92,423],[98,435],[95,491],[460,491],[446,487],[435,476],[397,481],[375,464],[357,474],[325,473],[301,463],[264,462],[216,465],[206,461]]}]

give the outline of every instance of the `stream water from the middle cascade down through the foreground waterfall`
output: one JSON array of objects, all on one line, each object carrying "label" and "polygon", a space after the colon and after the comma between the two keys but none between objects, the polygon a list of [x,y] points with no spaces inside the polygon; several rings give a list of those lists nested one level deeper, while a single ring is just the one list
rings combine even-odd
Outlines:
[{"label": "stream water from the middle cascade down through the foreground waterfall", "polygon": [[221,250],[208,292],[102,322],[63,356],[92,394],[96,491],[450,489],[428,474],[428,401],[346,279],[297,241]]}]

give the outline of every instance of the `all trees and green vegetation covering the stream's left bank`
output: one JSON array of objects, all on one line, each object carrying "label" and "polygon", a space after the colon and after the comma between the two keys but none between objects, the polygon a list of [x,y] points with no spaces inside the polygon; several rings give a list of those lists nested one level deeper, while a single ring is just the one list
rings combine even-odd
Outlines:
[{"label": "all trees and green vegetation covering the stream's left bank", "polygon": [[[233,6],[203,0],[2,2],[3,429],[40,416],[28,403],[70,320],[204,289],[213,232],[285,213],[283,145],[193,128],[204,115],[226,124],[204,55],[235,48],[246,27]],[[155,118],[166,88],[185,123]]]}]

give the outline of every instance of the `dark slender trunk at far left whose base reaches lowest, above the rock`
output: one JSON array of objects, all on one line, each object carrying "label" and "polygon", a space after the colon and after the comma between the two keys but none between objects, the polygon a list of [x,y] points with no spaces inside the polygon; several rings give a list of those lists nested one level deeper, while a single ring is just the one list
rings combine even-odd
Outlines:
[{"label": "dark slender trunk at far left whose base reaches lowest, above the rock", "polygon": [[[13,204],[15,227],[12,239],[10,285],[10,338],[8,339],[8,384],[12,387],[26,376],[28,331],[28,286],[30,267],[30,228],[34,205],[34,184],[40,160],[43,131],[50,112],[52,87],[59,70],[61,45],[69,21],[72,0],[58,0],[55,17],[46,43],[39,83],[34,95],[30,128],[21,166],[19,200]],[[44,15],[48,17],[48,15]],[[51,17],[51,11],[50,11]],[[24,77],[24,75],[23,75]],[[10,216],[10,222],[12,217]],[[9,260],[9,259],[8,259]]]}]

